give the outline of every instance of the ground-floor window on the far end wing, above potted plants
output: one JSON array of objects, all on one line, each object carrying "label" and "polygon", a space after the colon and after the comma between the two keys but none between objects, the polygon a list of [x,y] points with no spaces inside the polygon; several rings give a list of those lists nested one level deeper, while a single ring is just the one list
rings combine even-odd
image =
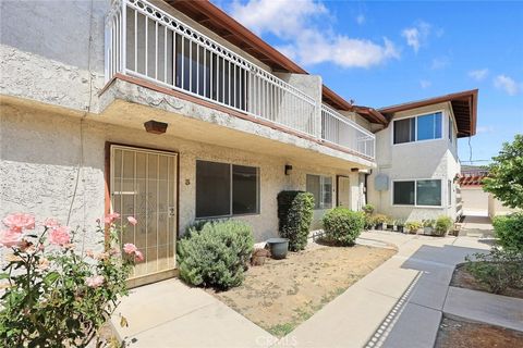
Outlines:
[{"label": "ground-floor window on the far end wing, above potted plants", "polygon": [[441,181],[393,182],[392,204],[441,207]]}]

